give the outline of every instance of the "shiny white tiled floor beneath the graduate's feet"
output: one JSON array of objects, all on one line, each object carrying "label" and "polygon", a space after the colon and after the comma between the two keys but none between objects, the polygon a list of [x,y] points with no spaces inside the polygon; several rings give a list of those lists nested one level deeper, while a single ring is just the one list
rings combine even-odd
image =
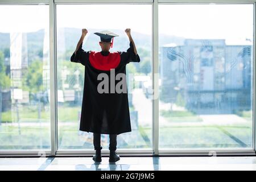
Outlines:
[{"label": "shiny white tiled floor beneath the graduate's feet", "polygon": [[256,157],[121,157],[109,163],[103,157],[94,163],[91,157],[79,158],[0,158],[0,171],[7,170],[253,170]]}]

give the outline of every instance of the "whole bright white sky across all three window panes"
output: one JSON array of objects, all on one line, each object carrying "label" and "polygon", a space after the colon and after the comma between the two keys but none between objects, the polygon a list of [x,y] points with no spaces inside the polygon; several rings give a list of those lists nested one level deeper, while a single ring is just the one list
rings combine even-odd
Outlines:
[{"label": "whole bright white sky across all three window panes", "polygon": [[[22,8],[20,8],[22,7]],[[151,5],[57,5],[57,27],[131,28],[151,35]],[[48,28],[48,6],[1,5],[0,32]],[[159,5],[159,33],[195,39],[253,39],[253,5]]]}]

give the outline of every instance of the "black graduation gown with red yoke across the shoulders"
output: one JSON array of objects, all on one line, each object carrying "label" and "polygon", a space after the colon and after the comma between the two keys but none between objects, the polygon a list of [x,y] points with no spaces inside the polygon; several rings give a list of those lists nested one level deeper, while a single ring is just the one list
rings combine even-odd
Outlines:
[{"label": "black graduation gown with red yoke across the shoulders", "polygon": [[[126,64],[139,61],[141,59],[138,54],[135,55],[132,42],[126,52],[84,51],[82,43],[76,54],[73,52],[71,62],[81,63],[85,67],[80,117],[81,131],[117,135],[131,131],[126,78],[124,81],[126,93],[117,93],[116,90],[111,93],[110,81],[113,79],[110,79],[110,69],[114,69],[114,77],[118,73],[126,74]],[[100,73],[106,73],[109,77],[109,93],[98,93],[97,91],[98,84],[102,82],[102,79],[97,79]],[[114,84],[117,85],[122,78],[114,80]]]}]

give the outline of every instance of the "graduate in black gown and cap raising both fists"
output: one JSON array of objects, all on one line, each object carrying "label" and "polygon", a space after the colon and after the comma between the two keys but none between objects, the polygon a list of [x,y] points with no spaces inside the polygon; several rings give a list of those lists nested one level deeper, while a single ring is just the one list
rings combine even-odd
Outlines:
[{"label": "graduate in black gown and cap raising both fists", "polygon": [[[109,134],[109,162],[119,160],[117,135],[131,131],[127,95],[126,64],[140,62],[130,28],[125,30],[130,47],[127,51],[110,52],[117,34],[110,31],[95,32],[100,36],[101,51],[84,51],[82,42],[88,33],[84,28],[71,61],[85,67],[80,130],[93,133],[95,162],[101,162],[101,134]],[[112,42],[111,42],[112,41]]]}]

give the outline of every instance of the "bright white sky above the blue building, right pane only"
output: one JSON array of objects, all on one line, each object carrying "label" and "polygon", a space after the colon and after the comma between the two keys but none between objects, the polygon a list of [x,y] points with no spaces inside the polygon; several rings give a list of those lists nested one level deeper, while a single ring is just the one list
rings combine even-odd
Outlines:
[{"label": "bright white sky above the blue building, right pane only", "polygon": [[193,39],[253,40],[253,4],[160,5],[159,17],[162,33]]}]

